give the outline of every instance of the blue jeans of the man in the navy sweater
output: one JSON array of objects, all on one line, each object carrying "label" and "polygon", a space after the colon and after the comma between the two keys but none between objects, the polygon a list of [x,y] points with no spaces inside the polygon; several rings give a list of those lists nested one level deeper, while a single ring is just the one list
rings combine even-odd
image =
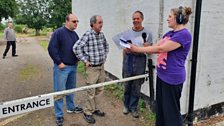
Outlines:
[{"label": "blue jeans of the man in the navy sweater", "polygon": [[[77,65],[68,66],[59,69],[54,64],[54,91],[63,91],[76,87],[76,69]],[[66,108],[67,110],[75,109],[74,94],[66,95]],[[55,116],[63,117],[63,98],[60,98],[54,102]]]}]

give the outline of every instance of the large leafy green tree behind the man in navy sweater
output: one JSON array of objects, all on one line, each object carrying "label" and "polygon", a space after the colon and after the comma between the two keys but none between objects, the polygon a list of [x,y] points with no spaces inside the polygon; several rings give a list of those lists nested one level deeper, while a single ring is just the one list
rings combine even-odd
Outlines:
[{"label": "large leafy green tree behind the man in navy sweater", "polygon": [[71,0],[17,0],[19,14],[16,22],[26,24],[29,28],[40,30],[44,26],[56,29],[65,22],[65,17],[71,13]]}]

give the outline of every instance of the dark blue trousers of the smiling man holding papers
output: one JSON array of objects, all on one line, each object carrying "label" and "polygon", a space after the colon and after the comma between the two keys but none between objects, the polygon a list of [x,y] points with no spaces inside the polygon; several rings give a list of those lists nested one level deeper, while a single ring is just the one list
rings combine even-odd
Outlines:
[{"label": "dark blue trousers of the smiling man holding papers", "polygon": [[[146,56],[136,56],[126,54],[123,59],[122,76],[123,78],[142,75],[145,73]],[[125,82],[124,85],[124,106],[130,111],[137,111],[140,98],[141,85],[144,79],[137,79]]]}]

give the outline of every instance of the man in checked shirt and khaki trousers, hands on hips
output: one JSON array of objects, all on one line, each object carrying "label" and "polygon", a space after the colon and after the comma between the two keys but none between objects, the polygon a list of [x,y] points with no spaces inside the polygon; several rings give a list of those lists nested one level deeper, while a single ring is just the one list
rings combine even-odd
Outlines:
[{"label": "man in checked shirt and khaki trousers, hands on hips", "polygon": [[[76,56],[85,63],[86,85],[92,85],[105,81],[104,63],[109,52],[107,40],[101,32],[103,19],[94,15],[90,19],[91,29],[79,39],[73,46]],[[83,107],[84,119],[91,124],[95,123],[93,114],[104,116],[105,113],[99,109],[98,98],[103,93],[103,87],[87,90],[88,99]]]}]

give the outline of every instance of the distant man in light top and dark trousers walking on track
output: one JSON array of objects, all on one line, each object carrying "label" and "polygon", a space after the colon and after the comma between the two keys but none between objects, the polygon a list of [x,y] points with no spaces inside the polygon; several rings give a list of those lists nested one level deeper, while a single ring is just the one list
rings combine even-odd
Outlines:
[{"label": "distant man in light top and dark trousers walking on track", "polygon": [[12,57],[17,57],[18,55],[16,55],[16,36],[13,30],[12,21],[8,21],[8,27],[5,28],[3,36],[4,39],[7,41],[7,44],[2,58],[5,59],[11,45],[12,45]]}]

